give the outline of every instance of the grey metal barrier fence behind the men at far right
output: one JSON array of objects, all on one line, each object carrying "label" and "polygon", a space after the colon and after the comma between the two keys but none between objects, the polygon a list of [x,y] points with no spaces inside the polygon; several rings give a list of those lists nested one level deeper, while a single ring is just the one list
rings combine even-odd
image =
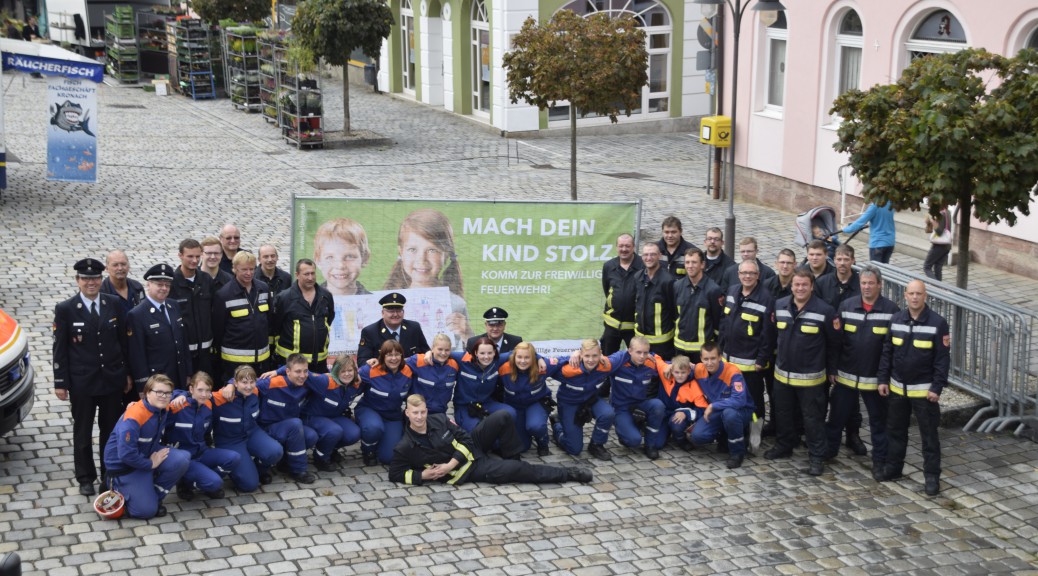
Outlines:
[{"label": "grey metal barrier fence behind the men at far right", "polygon": [[1038,354],[1032,334],[1038,313],[890,265],[871,263],[883,273],[883,296],[903,306],[911,280],[927,285],[927,304],[944,317],[952,335],[949,382],[990,403],[963,427],[978,432],[1016,424],[1038,430]]}]

